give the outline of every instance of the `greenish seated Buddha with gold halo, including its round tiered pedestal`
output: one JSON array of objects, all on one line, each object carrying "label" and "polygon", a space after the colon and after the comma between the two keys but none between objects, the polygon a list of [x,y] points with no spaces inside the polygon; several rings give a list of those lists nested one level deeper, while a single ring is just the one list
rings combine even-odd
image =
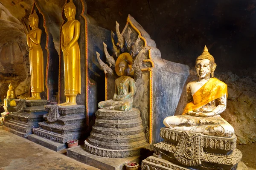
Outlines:
[{"label": "greenish seated Buddha with gold halo, including its round tiered pedestal", "polygon": [[133,58],[122,53],[116,60],[113,99],[99,102],[95,124],[84,141],[88,153],[110,158],[138,156],[148,146],[143,132],[140,110],[133,108],[134,74]]}]

